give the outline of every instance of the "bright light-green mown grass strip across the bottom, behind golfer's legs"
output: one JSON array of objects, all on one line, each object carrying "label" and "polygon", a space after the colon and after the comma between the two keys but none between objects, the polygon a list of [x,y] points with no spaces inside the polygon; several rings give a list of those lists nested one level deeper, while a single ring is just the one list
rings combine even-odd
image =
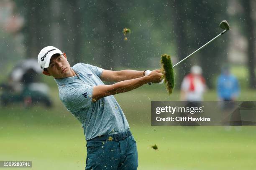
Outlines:
[{"label": "bright light-green mown grass strip across the bottom, behind golfer's legs", "polygon": [[[139,170],[253,170],[254,127],[131,126],[137,140]],[[82,170],[85,140],[78,126],[4,125],[0,160],[31,160],[33,170]],[[159,150],[150,148],[158,145]]]}]

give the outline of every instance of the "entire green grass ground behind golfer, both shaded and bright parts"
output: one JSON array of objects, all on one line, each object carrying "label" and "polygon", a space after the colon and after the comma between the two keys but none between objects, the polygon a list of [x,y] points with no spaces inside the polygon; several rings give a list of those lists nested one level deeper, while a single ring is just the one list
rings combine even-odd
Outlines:
[{"label": "entire green grass ground behind golfer, both shaded and bright parts", "polygon": [[[80,123],[61,104],[52,80],[54,107],[22,105],[0,108],[0,160],[32,161],[23,170],[83,170],[86,141]],[[241,90],[238,100],[255,100],[256,91]],[[137,141],[139,170],[253,170],[256,127],[151,126],[152,100],[179,100],[164,85],[145,85],[115,95]],[[217,100],[214,90],[205,100]],[[159,150],[153,150],[156,144]],[[4,169],[4,168],[0,168]],[[13,168],[8,168],[11,170]],[[15,168],[18,169],[18,168]],[[13,170],[15,170],[13,169]]]}]

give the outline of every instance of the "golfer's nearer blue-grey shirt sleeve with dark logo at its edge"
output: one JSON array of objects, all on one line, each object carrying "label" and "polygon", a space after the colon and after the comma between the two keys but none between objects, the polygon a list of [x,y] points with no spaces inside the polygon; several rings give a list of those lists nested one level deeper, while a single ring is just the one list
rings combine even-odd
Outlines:
[{"label": "golfer's nearer blue-grey shirt sleeve with dark logo at its edge", "polygon": [[86,84],[74,85],[67,89],[64,105],[70,112],[91,107],[93,87]]}]

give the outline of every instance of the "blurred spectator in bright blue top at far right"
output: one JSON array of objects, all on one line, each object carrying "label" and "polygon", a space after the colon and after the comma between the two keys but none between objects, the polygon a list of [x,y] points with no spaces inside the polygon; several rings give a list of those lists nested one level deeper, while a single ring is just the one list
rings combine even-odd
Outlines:
[{"label": "blurred spectator in bright blue top at far right", "polygon": [[[235,101],[240,94],[240,86],[234,75],[230,74],[230,67],[224,66],[218,77],[217,92],[220,101]],[[223,109],[232,109],[233,102],[223,105]]]}]

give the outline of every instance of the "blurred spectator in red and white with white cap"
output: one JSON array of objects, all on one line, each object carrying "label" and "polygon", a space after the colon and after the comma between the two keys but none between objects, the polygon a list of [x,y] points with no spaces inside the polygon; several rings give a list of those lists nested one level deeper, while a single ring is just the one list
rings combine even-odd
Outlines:
[{"label": "blurred spectator in red and white with white cap", "polygon": [[206,90],[202,69],[198,65],[191,67],[191,73],[184,77],[181,85],[181,100],[201,101]]}]

